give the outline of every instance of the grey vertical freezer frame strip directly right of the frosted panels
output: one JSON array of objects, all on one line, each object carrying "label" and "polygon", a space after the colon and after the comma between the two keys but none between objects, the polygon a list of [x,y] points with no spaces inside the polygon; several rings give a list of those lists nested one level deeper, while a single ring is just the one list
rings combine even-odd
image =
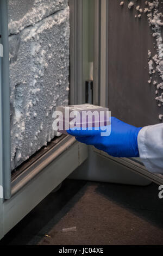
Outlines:
[{"label": "grey vertical freezer frame strip directly right of the frosted panels", "polygon": [[83,88],[83,0],[70,5],[70,104],[82,104]]}]

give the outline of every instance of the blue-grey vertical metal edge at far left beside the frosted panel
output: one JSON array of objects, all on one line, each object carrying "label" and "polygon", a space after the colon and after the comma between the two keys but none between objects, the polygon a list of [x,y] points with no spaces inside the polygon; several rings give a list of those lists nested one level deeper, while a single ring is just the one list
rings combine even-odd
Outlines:
[{"label": "blue-grey vertical metal edge at far left beside the frosted panel", "polygon": [[10,168],[10,87],[9,87],[9,42],[8,42],[8,8],[7,1],[0,1],[1,9],[1,172],[3,175],[3,198],[11,197]]}]

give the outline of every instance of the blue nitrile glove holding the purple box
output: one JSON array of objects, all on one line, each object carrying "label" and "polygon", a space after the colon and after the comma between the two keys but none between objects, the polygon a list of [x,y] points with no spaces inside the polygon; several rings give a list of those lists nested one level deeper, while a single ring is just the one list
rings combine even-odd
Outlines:
[{"label": "blue nitrile glove holding the purple box", "polygon": [[111,117],[111,133],[109,136],[101,136],[101,130],[67,130],[77,141],[87,145],[93,145],[111,156],[139,157],[137,135],[142,127],[135,127]]}]

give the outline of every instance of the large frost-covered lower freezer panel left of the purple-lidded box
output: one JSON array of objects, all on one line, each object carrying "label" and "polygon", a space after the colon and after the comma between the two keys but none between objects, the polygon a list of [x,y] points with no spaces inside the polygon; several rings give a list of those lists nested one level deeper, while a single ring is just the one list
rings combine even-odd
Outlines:
[{"label": "large frost-covered lower freezer panel left of the purple-lidded box", "polygon": [[19,31],[9,36],[11,169],[57,135],[52,114],[68,103],[69,8]]}]

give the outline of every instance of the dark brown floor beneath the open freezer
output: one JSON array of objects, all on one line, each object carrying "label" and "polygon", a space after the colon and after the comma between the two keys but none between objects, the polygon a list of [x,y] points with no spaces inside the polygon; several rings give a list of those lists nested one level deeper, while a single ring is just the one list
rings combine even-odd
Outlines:
[{"label": "dark brown floor beneath the open freezer", "polygon": [[156,184],[66,180],[0,245],[163,245],[163,199]]}]

